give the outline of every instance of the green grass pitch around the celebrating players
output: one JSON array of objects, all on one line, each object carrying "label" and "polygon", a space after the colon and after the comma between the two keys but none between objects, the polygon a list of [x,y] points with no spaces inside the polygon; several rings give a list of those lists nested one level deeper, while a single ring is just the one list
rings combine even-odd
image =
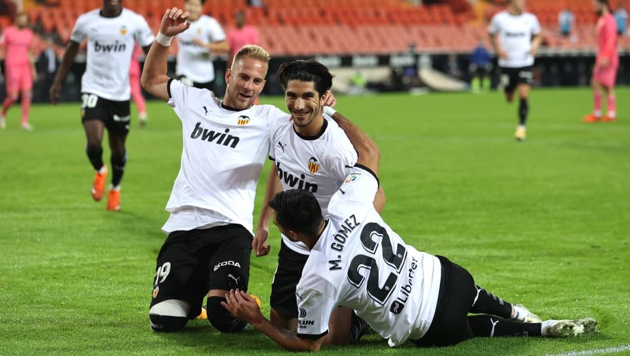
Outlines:
[{"label": "green grass pitch around the celebrating players", "polygon": [[[534,90],[524,143],[513,139],[517,103],[498,92],[338,97],[338,110],[381,148],[383,215],[408,244],[446,255],[543,319],[595,317],[600,334],[431,350],[391,349],[368,335],[323,353],[630,353],[630,88],[617,95],[617,122],[586,125],[588,88]],[[282,98],[262,102],[284,108]],[[34,132],[19,130],[19,110],[0,131],[0,354],[282,352],[256,330],[221,335],[202,321],[172,335],[149,328],[164,205],[182,147],[169,106],[150,102],[145,129],[133,121],[117,213],[90,197],[79,104],[33,106]],[[275,228],[271,235],[271,254],[251,257],[250,291],[265,314],[279,243]]]}]

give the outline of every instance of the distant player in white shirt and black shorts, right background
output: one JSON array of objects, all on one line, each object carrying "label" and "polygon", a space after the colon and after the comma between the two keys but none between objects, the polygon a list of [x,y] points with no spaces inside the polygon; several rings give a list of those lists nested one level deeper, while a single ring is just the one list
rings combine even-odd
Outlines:
[{"label": "distant player in white shirt and black shorts, right background", "polygon": [[514,90],[519,95],[519,125],[515,139],[524,141],[529,114],[529,91],[533,83],[534,57],[542,41],[540,23],[534,14],[525,12],[525,0],[510,0],[507,10],[493,16],[488,26],[490,43],[499,57],[501,85],[511,103]]}]

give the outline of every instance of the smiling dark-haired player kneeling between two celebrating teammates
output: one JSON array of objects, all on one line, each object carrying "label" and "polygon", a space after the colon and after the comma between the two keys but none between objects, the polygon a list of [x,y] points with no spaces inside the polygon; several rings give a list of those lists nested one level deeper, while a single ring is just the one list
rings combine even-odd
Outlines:
[{"label": "smiling dark-haired player kneeling between two celebrating teammates", "polygon": [[[283,63],[277,76],[285,90],[285,103],[292,121],[278,122],[269,139],[269,159],[274,161],[274,166],[267,179],[264,206],[254,237],[256,256],[269,253],[267,238],[271,209],[267,202],[276,192],[296,188],[309,190],[325,215],[330,197],[357,159],[356,150],[345,132],[323,112],[327,92],[332,86],[328,68],[317,61],[297,60]],[[328,109],[334,113],[332,108]],[[377,210],[382,210],[385,204],[382,190],[374,204]],[[270,298],[271,322],[277,326],[297,330],[296,285],[308,255],[307,246],[283,235]],[[326,344],[354,342],[365,330],[365,322],[347,308],[334,311],[330,326]]]}]

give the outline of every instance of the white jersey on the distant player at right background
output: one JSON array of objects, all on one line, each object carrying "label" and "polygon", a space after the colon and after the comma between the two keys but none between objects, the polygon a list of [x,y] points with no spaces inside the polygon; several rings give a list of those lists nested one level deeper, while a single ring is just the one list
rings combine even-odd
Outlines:
[{"label": "white jersey on the distant player at right background", "polygon": [[506,10],[498,12],[490,20],[488,32],[498,34],[499,47],[508,55],[508,58],[499,58],[499,67],[533,66],[534,56],[531,55],[531,41],[533,36],[540,34],[540,22],[534,14],[523,12],[514,15]]}]

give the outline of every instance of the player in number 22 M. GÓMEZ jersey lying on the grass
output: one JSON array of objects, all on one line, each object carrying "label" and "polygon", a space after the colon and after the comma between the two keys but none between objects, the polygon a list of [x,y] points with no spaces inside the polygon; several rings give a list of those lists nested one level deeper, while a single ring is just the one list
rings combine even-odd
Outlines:
[{"label": "player in number 22 M. G\u00d3MEZ jersey lying on the grass", "polygon": [[541,322],[524,306],[477,286],[466,269],[446,257],[405,244],[372,206],[379,188],[379,149],[354,124],[335,118],[359,159],[330,199],[327,220],[307,190],[285,190],[269,201],[280,231],[311,250],[296,288],[297,332],[271,324],[240,290],[226,295],[222,305],[227,310],[294,351],[319,350],[337,306],[356,310],[390,346],[407,340],[418,346],[448,346],[471,337],[597,332],[592,318]]}]

